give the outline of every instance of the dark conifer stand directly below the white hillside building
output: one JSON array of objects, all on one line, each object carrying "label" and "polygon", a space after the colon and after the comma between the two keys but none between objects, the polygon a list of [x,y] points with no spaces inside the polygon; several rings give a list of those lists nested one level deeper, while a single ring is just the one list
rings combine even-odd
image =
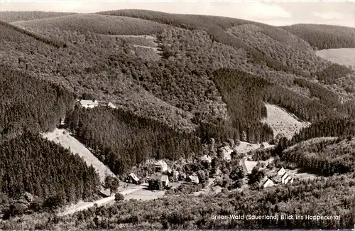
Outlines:
[{"label": "dark conifer stand directly below the white hillside building", "polygon": [[147,159],[187,159],[202,150],[194,133],[176,132],[161,122],[121,109],[75,107],[67,115],[67,124],[111,171],[120,175]]}]

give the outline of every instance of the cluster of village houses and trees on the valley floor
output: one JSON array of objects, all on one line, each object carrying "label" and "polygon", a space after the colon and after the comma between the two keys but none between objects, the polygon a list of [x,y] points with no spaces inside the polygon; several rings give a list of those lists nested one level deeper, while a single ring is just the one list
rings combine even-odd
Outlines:
[{"label": "cluster of village houses and trees on the valley floor", "polygon": [[[240,190],[246,187],[259,189],[292,184],[297,178],[297,171],[286,170],[283,166],[276,168],[275,161],[252,161],[250,151],[264,149],[268,144],[249,144],[240,142],[239,146],[227,145],[219,147],[217,154],[204,154],[189,161],[158,160],[148,163],[153,166],[153,172],[135,168],[126,177],[120,177],[128,186],[142,186],[160,196],[171,194],[218,193],[226,190]],[[273,146],[268,145],[268,148]],[[170,163],[170,165],[168,163]],[[180,163],[178,163],[180,162]],[[185,163],[185,165],[184,165]],[[243,166],[246,166],[244,168]],[[148,167],[147,167],[148,168]],[[255,169],[254,169],[255,168]],[[240,171],[241,172],[238,172]],[[249,178],[263,171],[263,176],[257,183],[251,185]],[[144,172],[144,173],[143,173]],[[234,176],[234,175],[239,176]]]}]

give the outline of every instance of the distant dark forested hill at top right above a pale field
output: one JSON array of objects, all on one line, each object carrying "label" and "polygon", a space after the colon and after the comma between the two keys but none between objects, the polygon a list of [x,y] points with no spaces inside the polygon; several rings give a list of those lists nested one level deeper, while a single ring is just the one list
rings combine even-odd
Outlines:
[{"label": "distant dark forested hill at top right above a pale field", "polygon": [[280,26],[307,41],[315,50],[355,48],[355,28],[322,24]]}]

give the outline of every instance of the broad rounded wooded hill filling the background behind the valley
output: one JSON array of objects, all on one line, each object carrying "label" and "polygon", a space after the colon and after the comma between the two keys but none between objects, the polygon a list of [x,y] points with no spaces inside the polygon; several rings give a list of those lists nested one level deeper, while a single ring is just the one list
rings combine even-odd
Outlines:
[{"label": "broad rounded wooded hill filling the background behind the valley", "polygon": [[[4,43],[17,38],[8,36],[2,49],[9,55],[1,58],[7,65],[176,130],[236,138],[246,131],[248,141],[267,141],[271,131],[258,122],[266,116],[263,102],[308,122],[354,114],[354,72],[318,58],[309,43],[283,28],[141,10],[13,25],[65,41],[66,47],[55,49],[23,34],[21,43]],[[233,78],[244,82],[234,85]],[[260,87],[263,94],[253,102],[257,112],[238,112]]]}]

